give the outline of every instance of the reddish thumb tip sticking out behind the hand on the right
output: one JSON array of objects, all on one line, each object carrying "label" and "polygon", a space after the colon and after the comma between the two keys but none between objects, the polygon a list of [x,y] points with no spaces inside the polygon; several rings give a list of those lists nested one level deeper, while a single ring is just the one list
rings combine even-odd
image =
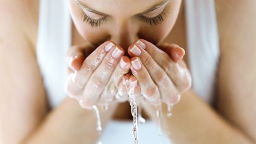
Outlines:
[{"label": "reddish thumb tip sticking out behind the hand on the right", "polygon": [[166,52],[173,59],[174,63],[181,61],[185,55],[185,50],[176,44],[162,44],[158,47]]}]

